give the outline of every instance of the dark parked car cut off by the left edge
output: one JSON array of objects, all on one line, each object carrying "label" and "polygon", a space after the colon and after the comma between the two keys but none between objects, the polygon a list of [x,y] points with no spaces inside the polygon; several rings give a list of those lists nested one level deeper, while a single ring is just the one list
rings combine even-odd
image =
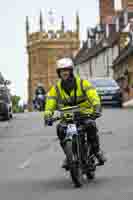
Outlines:
[{"label": "dark parked car cut off by the left edge", "polygon": [[8,84],[10,84],[9,81],[0,84],[0,116],[6,120],[9,120],[13,116],[11,94],[7,87]]}]

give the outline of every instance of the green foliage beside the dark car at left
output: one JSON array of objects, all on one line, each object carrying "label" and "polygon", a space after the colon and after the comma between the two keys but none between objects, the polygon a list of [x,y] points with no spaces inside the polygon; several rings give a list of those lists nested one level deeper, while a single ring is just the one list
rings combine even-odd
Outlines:
[{"label": "green foliage beside the dark car at left", "polygon": [[21,98],[19,96],[14,95],[11,97],[11,99],[12,99],[13,112],[14,113],[23,112],[23,108],[21,106],[19,106],[19,101]]}]

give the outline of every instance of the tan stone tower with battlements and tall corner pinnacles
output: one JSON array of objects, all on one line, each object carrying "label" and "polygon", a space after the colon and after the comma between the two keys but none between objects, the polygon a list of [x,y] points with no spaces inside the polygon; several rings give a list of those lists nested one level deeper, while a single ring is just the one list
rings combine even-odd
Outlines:
[{"label": "tan stone tower with battlements and tall corner pinnacles", "polygon": [[58,58],[71,56],[79,50],[79,16],[76,14],[75,31],[65,31],[64,18],[59,30],[45,31],[40,13],[39,31],[30,33],[29,20],[26,17],[26,37],[28,52],[28,105],[32,110],[32,100],[38,83],[47,91],[57,79],[55,63]]}]

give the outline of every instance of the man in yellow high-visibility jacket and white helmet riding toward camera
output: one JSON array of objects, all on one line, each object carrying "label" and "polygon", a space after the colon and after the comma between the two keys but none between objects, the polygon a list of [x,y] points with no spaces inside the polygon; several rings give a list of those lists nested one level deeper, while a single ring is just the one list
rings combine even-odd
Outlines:
[{"label": "man in yellow high-visibility jacket and white helmet riding toward camera", "polygon": [[[60,79],[47,93],[44,112],[46,124],[49,122],[49,119],[52,117],[57,107],[64,108],[65,106],[73,106],[76,104],[78,104],[81,109],[85,108],[85,113],[100,117],[101,105],[96,89],[89,81],[81,80],[79,76],[75,76],[73,67],[73,61],[70,58],[62,58],[57,61],[57,74]],[[92,145],[93,153],[98,159],[99,165],[104,165],[106,158],[100,150],[96,122],[95,120],[88,120],[88,122],[85,121],[85,125],[87,127],[88,141],[90,141]],[[61,123],[57,125],[57,135],[64,151],[65,143],[63,141],[65,138],[65,130]],[[67,159],[64,160],[62,167],[65,168],[66,166]]]}]

